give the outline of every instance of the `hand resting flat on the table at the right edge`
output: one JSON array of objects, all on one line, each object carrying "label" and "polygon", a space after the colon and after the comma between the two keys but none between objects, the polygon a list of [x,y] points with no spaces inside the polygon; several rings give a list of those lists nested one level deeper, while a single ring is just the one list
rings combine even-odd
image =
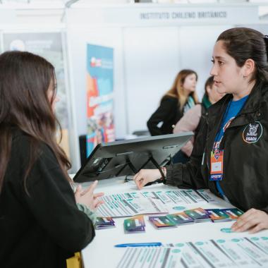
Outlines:
[{"label": "hand resting flat on the table at the right edge", "polygon": [[249,231],[249,233],[268,229],[268,214],[259,209],[249,209],[238,218],[231,229],[236,232]]}]

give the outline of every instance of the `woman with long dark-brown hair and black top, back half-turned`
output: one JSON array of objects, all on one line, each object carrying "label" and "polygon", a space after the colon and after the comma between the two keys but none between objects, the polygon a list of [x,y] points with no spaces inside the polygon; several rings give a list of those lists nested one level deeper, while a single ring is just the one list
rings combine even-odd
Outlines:
[{"label": "woman with long dark-brown hair and black top, back half-turned", "polygon": [[0,55],[0,264],[66,267],[95,236],[90,188],[75,193],[71,164],[56,142],[54,67],[40,56]]}]

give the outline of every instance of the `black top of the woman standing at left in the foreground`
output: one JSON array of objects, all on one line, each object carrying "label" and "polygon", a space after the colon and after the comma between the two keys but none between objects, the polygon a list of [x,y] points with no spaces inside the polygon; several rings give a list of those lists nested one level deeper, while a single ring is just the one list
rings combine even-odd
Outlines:
[{"label": "black top of the woman standing at left in the foreground", "polygon": [[27,178],[30,137],[13,133],[11,159],[0,193],[0,266],[66,267],[95,236],[92,221],[78,210],[73,190],[47,145]]}]

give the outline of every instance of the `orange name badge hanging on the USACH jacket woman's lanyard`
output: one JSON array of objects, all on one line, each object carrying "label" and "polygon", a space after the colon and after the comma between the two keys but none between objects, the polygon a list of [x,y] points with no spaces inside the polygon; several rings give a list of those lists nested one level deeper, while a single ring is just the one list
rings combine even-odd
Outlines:
[{"label": "orange name badge hanging on the USACH jacket woman's lanyard", "polygon": [[224,171],[224,150],[215,150],[210,153],[209,181],[221,181]]}]

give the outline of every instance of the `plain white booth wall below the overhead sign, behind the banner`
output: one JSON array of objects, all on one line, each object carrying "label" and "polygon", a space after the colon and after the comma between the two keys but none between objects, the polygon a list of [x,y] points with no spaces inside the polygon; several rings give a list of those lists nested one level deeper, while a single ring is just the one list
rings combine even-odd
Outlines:
[{"label": "plain white booth wall below the overhead sign, behind the banner", "polygon": [[114,48],[116,138],[125,138],[135,130],[147,129],[147,119],[182,68],[197,72],[197,94],[202,98],[214,42],[227,28],[231,25],[92,29],[72,25],[68,50],[78,135],[85,134],[87,128],[87,43]]}]

